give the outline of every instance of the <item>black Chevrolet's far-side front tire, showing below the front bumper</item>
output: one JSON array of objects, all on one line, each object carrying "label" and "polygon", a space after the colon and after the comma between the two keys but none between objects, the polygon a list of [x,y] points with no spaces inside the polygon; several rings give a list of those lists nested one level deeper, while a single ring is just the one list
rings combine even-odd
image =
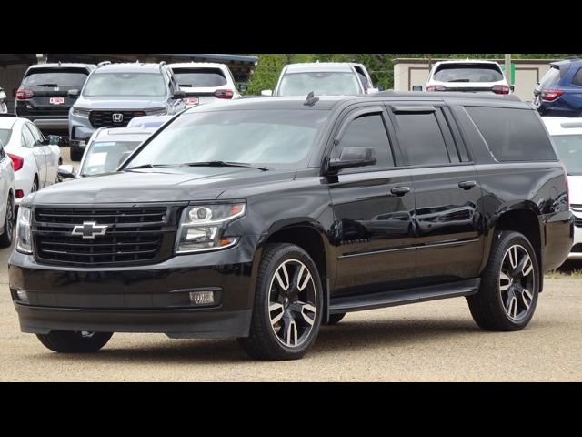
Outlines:
[{"label": "black Chevrolet's far-side front tire, showing below the front bumper", "polygon": [[36,337],[51,351],[91,353],[103,348],[112,335],[113,332],[51,330],[48,334],[36,334]]}]

